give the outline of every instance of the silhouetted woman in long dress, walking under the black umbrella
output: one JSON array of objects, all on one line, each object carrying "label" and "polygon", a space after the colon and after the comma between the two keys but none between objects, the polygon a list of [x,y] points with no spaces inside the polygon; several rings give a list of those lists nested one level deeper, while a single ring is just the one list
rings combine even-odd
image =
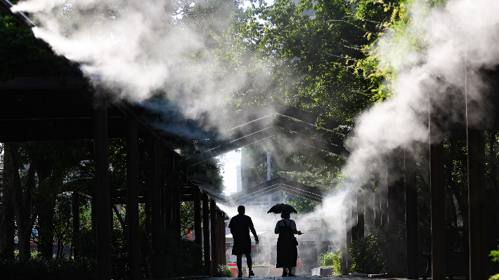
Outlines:
[{"label": "silhouetted woman in long dress, walking under the black umbrella", "polygon": [[297,225],[290,219],[290,213],[280,214],[280,220],[277,222],[274,232],[279,234],[277,239],[277,264],[276,267],[283,267],[283,276],[295,276],[293,268],[297,266],[298,241],[294,234],[302,234],[297,231]]}]

